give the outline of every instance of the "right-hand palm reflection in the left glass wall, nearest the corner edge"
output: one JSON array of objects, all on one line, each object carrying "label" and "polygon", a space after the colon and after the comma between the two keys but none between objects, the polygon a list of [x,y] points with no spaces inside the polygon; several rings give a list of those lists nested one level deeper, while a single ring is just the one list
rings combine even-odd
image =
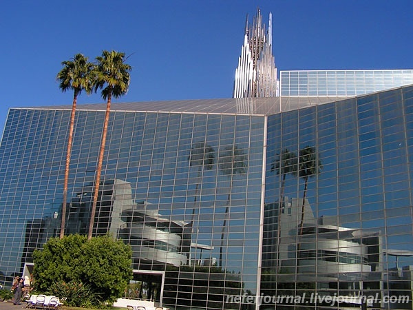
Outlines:
[{"label": "right-hand palm reflection in the left glass wall, nearest the corner edge", "polygon": [[247,158],[244,150],[239,149],[236,145],[226,147],[224,149],[224,152],[220,155],[220,171],[222,172],[222,174],[229,177],[229,193],[228,198],[226,199],[225,218],[221,231],[220,267],[222,267],[222,250],[224,248],[226,221],[228,220],[229,216],[229,204],[231,201],[233,178],[236,174],[245,174],[246,159]]}]

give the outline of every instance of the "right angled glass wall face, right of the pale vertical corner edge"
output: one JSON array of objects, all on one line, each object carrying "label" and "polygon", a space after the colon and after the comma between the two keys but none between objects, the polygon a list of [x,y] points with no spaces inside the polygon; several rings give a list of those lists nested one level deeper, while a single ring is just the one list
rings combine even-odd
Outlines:
[{"label": "right angled glass wall face, right of the pale vertical corner edge", "polygon": [[263,296],[412,309],[412,126],[413,87],[268,117]]}]

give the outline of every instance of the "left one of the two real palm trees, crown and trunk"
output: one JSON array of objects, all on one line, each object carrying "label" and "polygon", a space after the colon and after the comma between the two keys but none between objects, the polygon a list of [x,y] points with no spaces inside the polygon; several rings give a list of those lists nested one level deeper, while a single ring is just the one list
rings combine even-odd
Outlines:
[{"label": "left one of the two real palm trees, crown and trunk", "polygon": [[60,238],[65,236],[66,222],[66,201],[67,201],[67,183],[69,182],[69,165],[70,155],[72,154],[72,141],[74,131],[74,116],[76,113],[77,96],[85,90],[87,94],[92,91],[91,74],[93,64],[87,61],[83,54],[76,54],[70,61],[62,62],[63,69],[57,74],[56,79],[60,82],[59,88],[62,92],[73,90],[72,113],[70,114],[69,138],[67,140],[66,166],[65,166],[65,184],[63,185],[63,205],[62,205],[62,222]]}]

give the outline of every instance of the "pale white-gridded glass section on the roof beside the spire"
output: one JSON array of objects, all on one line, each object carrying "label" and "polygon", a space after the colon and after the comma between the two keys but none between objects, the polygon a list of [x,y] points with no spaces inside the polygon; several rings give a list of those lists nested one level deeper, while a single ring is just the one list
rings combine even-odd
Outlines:
[{"label": "pale white-gridded glass section on the roof beside the spire", "polygon": [[280,72],[281,96],[356,96],[413,84],[413,70]]}]

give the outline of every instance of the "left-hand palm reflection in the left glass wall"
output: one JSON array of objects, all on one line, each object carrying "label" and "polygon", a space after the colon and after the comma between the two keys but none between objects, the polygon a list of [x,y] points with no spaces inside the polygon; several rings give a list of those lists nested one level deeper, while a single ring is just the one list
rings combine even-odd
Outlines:
[{"label": "left-hand palm reflection in the left glass wall", "polygon": [[204,142],[196,143],[191,148],[191,154],[188,157],[190,167],[198,167],[198,174],[196,176],[195,198],[193,199],[193,208],[191,216],[191,227],[193,227],[193,220],[195,218],[195,205],[198,198],[198,187],[200,186],[201,172],[203,170],[211,170],[215,164],[215,150],[210,145]]}]

